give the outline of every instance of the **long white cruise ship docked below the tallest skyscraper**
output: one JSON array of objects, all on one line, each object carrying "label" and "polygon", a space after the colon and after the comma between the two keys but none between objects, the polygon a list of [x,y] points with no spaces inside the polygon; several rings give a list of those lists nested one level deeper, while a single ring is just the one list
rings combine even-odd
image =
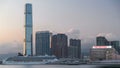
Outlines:
[{"label": "long white cruise ship docked below the tallest skyscraper", "polygon": [[49,64],[58,61],[55,56],[14,56],[9,57],[2,64]]}]

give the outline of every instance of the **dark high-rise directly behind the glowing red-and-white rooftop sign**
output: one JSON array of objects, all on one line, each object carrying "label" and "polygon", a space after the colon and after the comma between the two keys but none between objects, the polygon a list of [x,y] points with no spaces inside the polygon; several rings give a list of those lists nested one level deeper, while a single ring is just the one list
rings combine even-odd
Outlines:
[{"label": "dark high-rise directly behind the glowing red-and-white rooftop sign", "polygon": [[97,46],[102,46],[102,45],[109,45],[109,41],[103,37],[103,36],[99,36],[96,38],[96,45]]}]

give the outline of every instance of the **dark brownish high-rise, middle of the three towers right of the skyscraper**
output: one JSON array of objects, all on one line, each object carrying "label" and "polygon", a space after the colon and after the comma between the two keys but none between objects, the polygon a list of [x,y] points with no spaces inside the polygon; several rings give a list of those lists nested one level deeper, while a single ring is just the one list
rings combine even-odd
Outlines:
[{"label": "dark brownish high-rise, middle of the three towers right of the skyscraper", "polygon": [[57,34],[52,36],[51,49],[52,55],[57,58],[68,57],[68,38],[65,34]]}]

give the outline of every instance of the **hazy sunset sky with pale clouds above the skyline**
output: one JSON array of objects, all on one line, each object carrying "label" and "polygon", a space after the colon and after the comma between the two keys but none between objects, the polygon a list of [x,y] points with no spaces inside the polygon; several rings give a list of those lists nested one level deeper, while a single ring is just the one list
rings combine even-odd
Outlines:
[{"label": "hazy sunset sky with pale clouds above the skyline", "polygon": [[0,54],[22,52],[26,3],[33,7],[33,37],[65,33],[83,48],[95,45],[96,36],[120,40],[119,0],[0,0]]}]

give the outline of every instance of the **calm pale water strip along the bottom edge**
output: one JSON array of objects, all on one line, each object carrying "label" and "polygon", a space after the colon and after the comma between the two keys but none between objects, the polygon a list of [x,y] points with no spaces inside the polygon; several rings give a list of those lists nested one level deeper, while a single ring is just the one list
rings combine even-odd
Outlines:
[{"label": "calm pale water strip along the bottom edge", "polygon": [[97,68],[96,65],[0,65],[0,68]]}]

